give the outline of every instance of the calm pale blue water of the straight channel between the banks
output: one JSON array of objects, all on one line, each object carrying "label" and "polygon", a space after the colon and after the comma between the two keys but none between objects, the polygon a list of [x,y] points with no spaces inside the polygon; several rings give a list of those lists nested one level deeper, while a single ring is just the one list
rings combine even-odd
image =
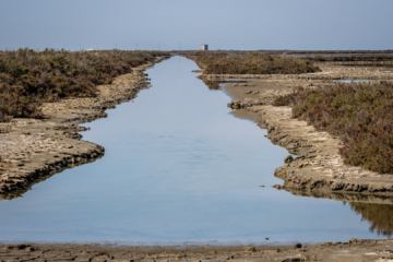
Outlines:
[{"label": "calm pale blue water of the straight channel between the banks", "polygon": [[[86,126],[105,157],[0,202],[2,241],[265,242],[374,238],[342,202],[271,186],[288,155],[229,115],[176,58],[147,70],[153,87]],[[264,184],[265,188],[259,186]]]}]

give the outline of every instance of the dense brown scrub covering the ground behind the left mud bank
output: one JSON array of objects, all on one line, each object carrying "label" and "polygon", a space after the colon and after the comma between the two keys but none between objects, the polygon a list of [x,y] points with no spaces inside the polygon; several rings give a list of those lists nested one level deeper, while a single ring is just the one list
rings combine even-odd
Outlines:
[{"label": "dense brown scrub covering the ground behind the left mud bank", "polygon": [[0,122],[13,117],[41,117],[43,102],[96,95],[133,67],[154,61],[159,51],[0,51]]}]

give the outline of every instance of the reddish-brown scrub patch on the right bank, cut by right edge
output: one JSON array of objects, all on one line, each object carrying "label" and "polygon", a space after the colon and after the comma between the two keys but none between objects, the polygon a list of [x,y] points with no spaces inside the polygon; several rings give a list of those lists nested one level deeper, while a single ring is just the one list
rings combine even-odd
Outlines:
[{"label": "reddish-brown scrub patch on the right bank, cut by right edge", "polygon": [[393,174],[393,84],[340,83],[279,96],[273,105],[293,106],[293,117],[342,139],[346,164]]}]

